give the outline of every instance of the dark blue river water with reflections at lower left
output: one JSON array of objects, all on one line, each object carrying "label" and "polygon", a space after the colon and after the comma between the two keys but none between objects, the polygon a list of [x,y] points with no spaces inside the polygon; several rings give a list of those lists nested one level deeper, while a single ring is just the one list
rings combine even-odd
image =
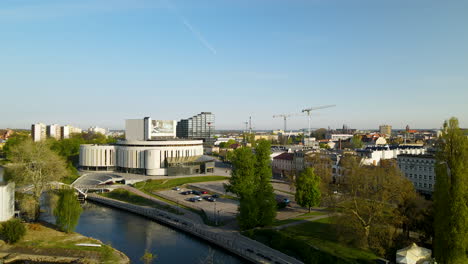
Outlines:
[{"label": "dark blue river water with reflections at lower left", "polygon": [[150,219],[118,209],[87,202],[76,232],[111,244],[132,263],[142,263],[148,250],[157,255],[155,263],[244,263],[234,255],[186,233]]}]

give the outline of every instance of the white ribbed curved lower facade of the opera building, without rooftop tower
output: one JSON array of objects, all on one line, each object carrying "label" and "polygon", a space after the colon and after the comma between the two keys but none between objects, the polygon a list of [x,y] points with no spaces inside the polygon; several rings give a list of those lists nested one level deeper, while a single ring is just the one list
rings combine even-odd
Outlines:
[{"label": "white ribbed curved lower facade of the opera building, without rooftop tower", "polygon": [[167,175],[169,160],[187,160],[202,155],[202,140],[130,140],[116,145],[81,145],[79,165],[85,169],[118,169],[152,176]]}]

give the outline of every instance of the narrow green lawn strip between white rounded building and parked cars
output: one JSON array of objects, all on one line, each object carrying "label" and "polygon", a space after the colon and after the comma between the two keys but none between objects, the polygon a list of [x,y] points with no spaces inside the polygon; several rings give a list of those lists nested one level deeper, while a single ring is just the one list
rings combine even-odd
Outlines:
[{"label": "narrow green lawn strip between white rounded building and parked cars", "polygon": [[176,186],[181,186],[187,183],[208,182],[208,181],[224,181],[229,177],[224,176],[202,176],[202,177],[186,177],[164,180],[147,180],[135,184],[135,188],[142,191],[154,192],[164,189],[170,189]]}]

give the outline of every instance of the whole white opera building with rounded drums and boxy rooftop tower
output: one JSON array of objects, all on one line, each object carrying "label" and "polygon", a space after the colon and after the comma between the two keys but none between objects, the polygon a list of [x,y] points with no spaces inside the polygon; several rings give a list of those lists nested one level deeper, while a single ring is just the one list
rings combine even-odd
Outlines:
[{"label": "whole white opera building with rounded drums and boxy rooftop tower", "polygon": [[203,140],[177,139],[176,124],[149,117],[126,120],[124,141],[80,146],[80,169],[150,176],[213,172],[214,160],[203,156]]}]

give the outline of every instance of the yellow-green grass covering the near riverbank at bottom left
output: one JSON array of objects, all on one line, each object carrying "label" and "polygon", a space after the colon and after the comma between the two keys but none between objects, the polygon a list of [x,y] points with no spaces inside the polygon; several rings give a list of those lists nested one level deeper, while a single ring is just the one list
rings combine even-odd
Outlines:
[{"label": "yellow-green grass covering the near riverbank at bottom left", "polygon": [[[26,235],[15,247],[31,248],[31,252],[42,250],[51,255],[69,256],[70,253],[80,255],[88,259],[98,259],[99,263],[118,263],[121,258],[119,254],[110,246],[83,247],[78,243],[102,244],[99,241],[82,236],[77,233],[64,233],[41,224],[26,224]],[[24,250],[24,249],[23,249]],[[73,254],[72,253],[72,254]]]}]

